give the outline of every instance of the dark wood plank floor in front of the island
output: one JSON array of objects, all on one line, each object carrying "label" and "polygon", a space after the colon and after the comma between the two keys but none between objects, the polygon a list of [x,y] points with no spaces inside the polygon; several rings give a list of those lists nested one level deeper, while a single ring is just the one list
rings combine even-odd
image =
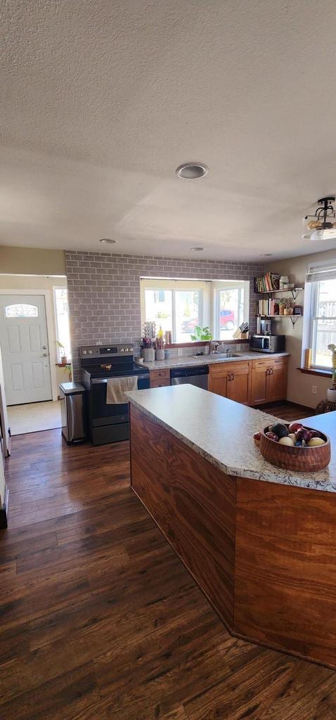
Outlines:
[{"label": "dark wood plank floor in front of the island", "polygon": [[232,638],[129,487],[128,444],[16,436],[4,720],[335,720],[336,676]]}]

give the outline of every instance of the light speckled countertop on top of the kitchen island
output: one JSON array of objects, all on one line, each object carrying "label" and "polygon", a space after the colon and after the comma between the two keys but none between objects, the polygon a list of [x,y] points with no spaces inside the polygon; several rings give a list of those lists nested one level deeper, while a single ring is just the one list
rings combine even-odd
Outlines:
[{"label": "light speckled countertop on top of the kitchen island", "polygon": [[[336,459],[326,469],[309,474],[266,462],[253,433],[276,422],[272,415],[189,384],[126,394],[135,407],[229,475],[336,492]],[[315,420],[318,429],[318,417]]]}]

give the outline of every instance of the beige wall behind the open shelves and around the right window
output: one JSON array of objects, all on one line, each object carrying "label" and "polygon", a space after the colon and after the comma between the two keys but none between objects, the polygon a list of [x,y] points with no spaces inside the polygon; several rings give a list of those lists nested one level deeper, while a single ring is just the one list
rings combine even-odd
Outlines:
[{"label": "beige wall behind the open shelves and around the right window", "polygon": [[[313,255],[303,255],[299,258],[289,258],[270,263],[266,271],[289,275],[290,282],[295,282],[301,287],[306,279],[307,263],[329,260],[336,258],[336,250],[328,250]],[[296,299],[296,305],[304,305],[304,292],[300,292]],[[304,318],[297,320],[295,327],[291,325],[289,318],[273,320],[276,323],[276,332],[286,335],[286,349],[291,354],[289,358],[289,384],[287,388],[287,399],[292,402],[299,402],[309,408],[315,408],[319,400],[326,397],[327,387],[330,387],[330,378],[305,375],[297,368],[301,365],[301,345]],[[317,386],[317,395],[312,394],[312,385]]]}]

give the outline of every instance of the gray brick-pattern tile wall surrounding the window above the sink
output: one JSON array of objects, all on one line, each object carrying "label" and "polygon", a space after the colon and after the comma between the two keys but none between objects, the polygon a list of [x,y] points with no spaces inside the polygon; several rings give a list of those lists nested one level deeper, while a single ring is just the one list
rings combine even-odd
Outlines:
[{"label": "gray brick-pattern tile wall surrounding the window above the sink", "polygon": [[255,332],[253,277],[261,264],[183,260],[142,255],[65,252],[74,379],[79,377],[78,348],[131,342],[138,354],[141,338],[140,277],[250,280],[250,330]]}]

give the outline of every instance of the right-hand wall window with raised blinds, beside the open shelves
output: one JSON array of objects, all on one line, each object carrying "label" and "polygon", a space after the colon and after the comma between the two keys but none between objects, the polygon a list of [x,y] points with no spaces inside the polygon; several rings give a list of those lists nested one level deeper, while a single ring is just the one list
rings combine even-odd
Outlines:
[{"label": "right-hand wall window with raised blinds, beside the open shelves", "polygon": [[311,285],[309,318],[309,346],[312,366],[331,369],[331,343],[336,345],[336,260],[307,267],[307,282]]}]

